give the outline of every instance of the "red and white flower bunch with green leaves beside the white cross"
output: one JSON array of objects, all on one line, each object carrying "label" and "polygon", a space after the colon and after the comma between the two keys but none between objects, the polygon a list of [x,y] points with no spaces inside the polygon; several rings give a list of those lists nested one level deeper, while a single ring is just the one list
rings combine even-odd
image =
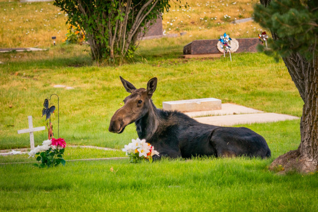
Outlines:
[{"label": "red and white flower bunch with green leaves beside the white cross", "polygon": [[59,164],[65,166],[65,160],[63,154],[65,150],[66,142],[63,138],[52,138],[51,140],[43,141],[41,146],[35,147],[28,154],[29,157],[36,157],[36,161],[41,161],[41,164],[34,164],[35,167],[56,167]]}]

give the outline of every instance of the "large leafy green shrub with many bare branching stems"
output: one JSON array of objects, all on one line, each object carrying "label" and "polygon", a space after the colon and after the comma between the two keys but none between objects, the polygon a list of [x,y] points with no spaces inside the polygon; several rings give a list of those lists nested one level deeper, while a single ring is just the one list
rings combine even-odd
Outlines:
[{"label": "large leafy green shrub with many bare branching stems", "polygon": [[132,57],[138,38],[171,7],[169,0],[55,0],[54,5],[82,30],[93,60],[119,64]]}]

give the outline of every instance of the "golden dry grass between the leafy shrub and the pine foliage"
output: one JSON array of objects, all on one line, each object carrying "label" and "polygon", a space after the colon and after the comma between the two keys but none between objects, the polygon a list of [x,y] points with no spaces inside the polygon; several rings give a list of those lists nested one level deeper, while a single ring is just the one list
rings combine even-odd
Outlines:
[{"label": "golden dry grass between the leafy shrub and the pine foliage", "polygon": [[234,20],[252,17],[253,5],[257,0],[187,1],[188,8],[172,4],[171,10],[163,15],[166,33],[186,31],[193,39],[217,39],[226,32],[233,38],[257,37],[264,31],[255,22],[230,24]]}]

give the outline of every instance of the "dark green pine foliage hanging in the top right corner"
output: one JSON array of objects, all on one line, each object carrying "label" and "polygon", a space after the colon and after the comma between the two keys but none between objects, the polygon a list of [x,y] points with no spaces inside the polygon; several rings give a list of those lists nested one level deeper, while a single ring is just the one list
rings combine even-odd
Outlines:
[{"label": "dark green pine foliage hanging in the top right corner", "polygon": [[317,57],[318,52],[318,1],[317,0],[263,0],[254,6],[254,20],[268,28],[273,39],[271,49],[260,50],[278,59],[299,52],[307,60]]}]

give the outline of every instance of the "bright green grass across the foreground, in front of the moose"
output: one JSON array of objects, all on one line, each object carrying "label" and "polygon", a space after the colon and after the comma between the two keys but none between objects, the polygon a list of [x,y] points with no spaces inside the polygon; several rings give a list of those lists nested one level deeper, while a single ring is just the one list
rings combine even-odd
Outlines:
[{"label": "bright green grass across the foreground, in front of the moose", "polygon": [[[281,176],[269,160],[198,158],[129,164],[0,166],[1,210],[315,211],[317,173]],[[113,171],[112,171],[112,170]],[[23,179],[23,180],[21,180]]]}]

